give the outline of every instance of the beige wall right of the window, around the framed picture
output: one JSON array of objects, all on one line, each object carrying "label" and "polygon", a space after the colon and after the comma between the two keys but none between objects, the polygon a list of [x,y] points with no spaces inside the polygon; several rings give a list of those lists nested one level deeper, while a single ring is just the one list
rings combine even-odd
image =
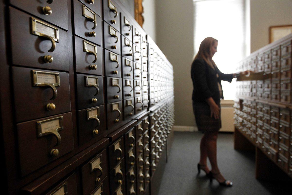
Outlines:
[{"label": "beige wall right of the window, around the framed picture", "polygon": [[251,52],[269,44],[269,27],[292,24],[292,0],[250,0]]}]

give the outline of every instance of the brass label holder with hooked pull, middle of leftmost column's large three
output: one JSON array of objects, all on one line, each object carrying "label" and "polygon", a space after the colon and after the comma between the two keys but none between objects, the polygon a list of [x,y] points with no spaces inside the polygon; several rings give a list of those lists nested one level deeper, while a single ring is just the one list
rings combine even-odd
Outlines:
[{"label": "brass label holder with hooked pull, middle of leftmost column's large three", "polygon": [[53,90],[53,97],[50,100],[56,99],[58,94],[56,87],[60,87],[59,73],[32,70],[32,77],[34,87],[50,87]]}]

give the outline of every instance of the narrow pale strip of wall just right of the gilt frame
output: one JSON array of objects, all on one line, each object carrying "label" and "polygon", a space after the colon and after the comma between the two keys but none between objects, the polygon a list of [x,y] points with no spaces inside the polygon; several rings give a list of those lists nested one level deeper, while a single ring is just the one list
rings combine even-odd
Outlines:
[{"label": "narrow pale strip of wall just right of the gilt frame", "polygon": [[143,0],[143,16],[144,24],[143,29],[150,35],[152,40],[156,42],[156,13],[155,13],[155,0]]}]

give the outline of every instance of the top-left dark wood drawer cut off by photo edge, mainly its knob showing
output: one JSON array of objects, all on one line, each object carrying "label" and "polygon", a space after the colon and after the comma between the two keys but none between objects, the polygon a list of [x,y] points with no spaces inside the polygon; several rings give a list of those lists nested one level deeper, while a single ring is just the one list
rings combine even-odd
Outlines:
[{"label": "top-left dark wood drawer cut off by photo edge, mainly its knob showing", "polygon": [[[68,30],[68,5],[67,0],[55,1],[19,1],[9,0],[10,3],[24,11],[35,15],[42,20],[57,25],[65,30]],[[22,31],[23,33],[24,31]]]}]

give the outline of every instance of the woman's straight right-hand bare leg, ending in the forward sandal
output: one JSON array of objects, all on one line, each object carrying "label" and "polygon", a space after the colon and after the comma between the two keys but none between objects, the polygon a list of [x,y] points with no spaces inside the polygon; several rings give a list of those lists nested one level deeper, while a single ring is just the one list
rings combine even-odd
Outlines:
[{"label": "woman's straight right-hand bare leg, ending in the forward sandal", "polygon": [[218,180],[218,182],[224,182],[225,178],[220,173],[220,170],[218,168],[217,164],[217,138],[218,138],[218,132],[209,132],[205,133],[206,136],[206,148],[207,148],[207,154],[208,158],[210,160],[212,170],[211,172],[214,174],[215,179]]}]

